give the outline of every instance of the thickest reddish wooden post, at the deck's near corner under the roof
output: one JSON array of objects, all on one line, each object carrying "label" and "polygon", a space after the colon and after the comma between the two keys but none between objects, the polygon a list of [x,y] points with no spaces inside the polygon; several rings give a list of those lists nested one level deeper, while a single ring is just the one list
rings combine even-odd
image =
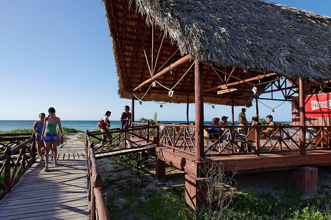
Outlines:
[{"label": "thickest reddish wooden post, at the deck's near corner under the roof", "polygon": [[195,161],[204,160],[204,93],[200,62],[195,60]]}]

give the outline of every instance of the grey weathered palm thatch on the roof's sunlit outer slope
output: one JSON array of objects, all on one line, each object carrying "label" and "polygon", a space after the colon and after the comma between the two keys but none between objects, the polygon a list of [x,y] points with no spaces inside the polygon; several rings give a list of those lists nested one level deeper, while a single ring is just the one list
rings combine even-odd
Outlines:
[{"label": "grey weathered palm thatch on the roof's sunlit outer slope", "polygon": [[331,78],[331,18],[260,0],[137,0],[181,53],[220,66]]}]

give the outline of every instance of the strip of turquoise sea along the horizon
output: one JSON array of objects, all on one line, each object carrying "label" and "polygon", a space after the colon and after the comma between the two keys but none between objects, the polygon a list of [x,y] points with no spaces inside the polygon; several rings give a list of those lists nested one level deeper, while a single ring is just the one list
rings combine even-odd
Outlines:
[{"label": "strip of turquoise sea along the horizon", "polygon": [[[0,131],[13,130],[16,128],[32,128],[35,121],[1,121],[0,120]],[[98,129],[99,121],[61,121],[62,126],[68,128],[76,128],[78,130],[94,130]],[[186,121],[161,121],[161,123],[185,123]],[[190,121],[194,123],[194,121]],[[211,123],[206,121],[205,123]],[[235,122],[238,123],[238,122]],[[284,122],[290,123],[290,122]],[[120,121],[110,121],[111,128],[119,128]]]}]

